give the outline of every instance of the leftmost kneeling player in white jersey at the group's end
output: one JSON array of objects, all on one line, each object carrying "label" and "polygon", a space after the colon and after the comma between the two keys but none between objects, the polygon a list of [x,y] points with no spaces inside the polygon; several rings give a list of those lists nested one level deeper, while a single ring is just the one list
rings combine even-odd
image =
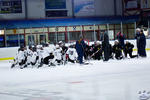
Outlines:
[{"label": "leftmost kneeling player in white jersey at the group's end", "polygon": [[16,58],[14,60],[14,63],[12,64],[11,68],[13,68],[17,64],[19,64],[19,67],[22,69],[22,68],[26,67],[26,61],[27,61],[27,57],[25,55],[25,47],[21,46],[18,49],[18,53],[16,55]]}]

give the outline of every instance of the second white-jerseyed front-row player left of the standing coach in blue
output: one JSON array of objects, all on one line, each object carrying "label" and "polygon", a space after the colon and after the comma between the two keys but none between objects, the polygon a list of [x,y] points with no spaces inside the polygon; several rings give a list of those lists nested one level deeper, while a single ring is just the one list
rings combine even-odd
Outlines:
[{"label": "second white-jerseyed front-row player left of the standing coach in blue", "polygon": [[54,57],[58,65],[62,64],[62,49],[58,45],[56,45]]}]

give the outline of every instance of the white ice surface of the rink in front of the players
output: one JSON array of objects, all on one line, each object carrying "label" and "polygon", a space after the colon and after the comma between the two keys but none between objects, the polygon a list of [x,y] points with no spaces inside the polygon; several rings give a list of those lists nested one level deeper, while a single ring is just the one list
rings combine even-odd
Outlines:
[{"label": "white ice surface of the rink in front of the players", "polygon": [[0,61],[0,100],[139,100],[139,91],[150,91],[147,55],[39,69]]}]

